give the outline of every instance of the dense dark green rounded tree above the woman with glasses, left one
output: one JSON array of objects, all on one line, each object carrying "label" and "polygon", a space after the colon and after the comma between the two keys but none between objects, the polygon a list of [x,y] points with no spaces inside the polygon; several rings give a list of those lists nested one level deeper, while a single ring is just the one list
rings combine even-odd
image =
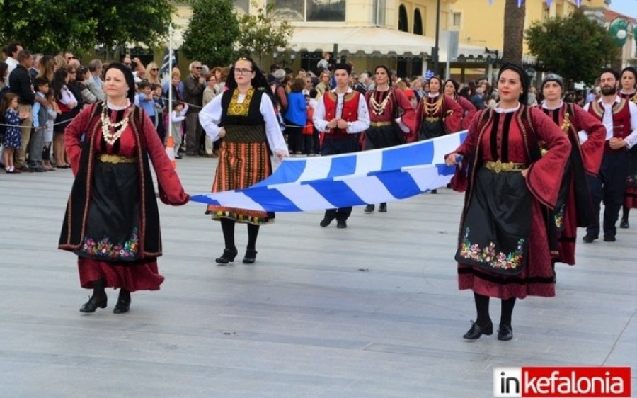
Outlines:
[{"label": "dense dark green rounded tree above the woman with glasses, left one", "polygon": [[236,57],[234,44],[239,23],[231,0],[190,0],[193,18],[183,34],[186,57],[211,67],[229,65]]}]

